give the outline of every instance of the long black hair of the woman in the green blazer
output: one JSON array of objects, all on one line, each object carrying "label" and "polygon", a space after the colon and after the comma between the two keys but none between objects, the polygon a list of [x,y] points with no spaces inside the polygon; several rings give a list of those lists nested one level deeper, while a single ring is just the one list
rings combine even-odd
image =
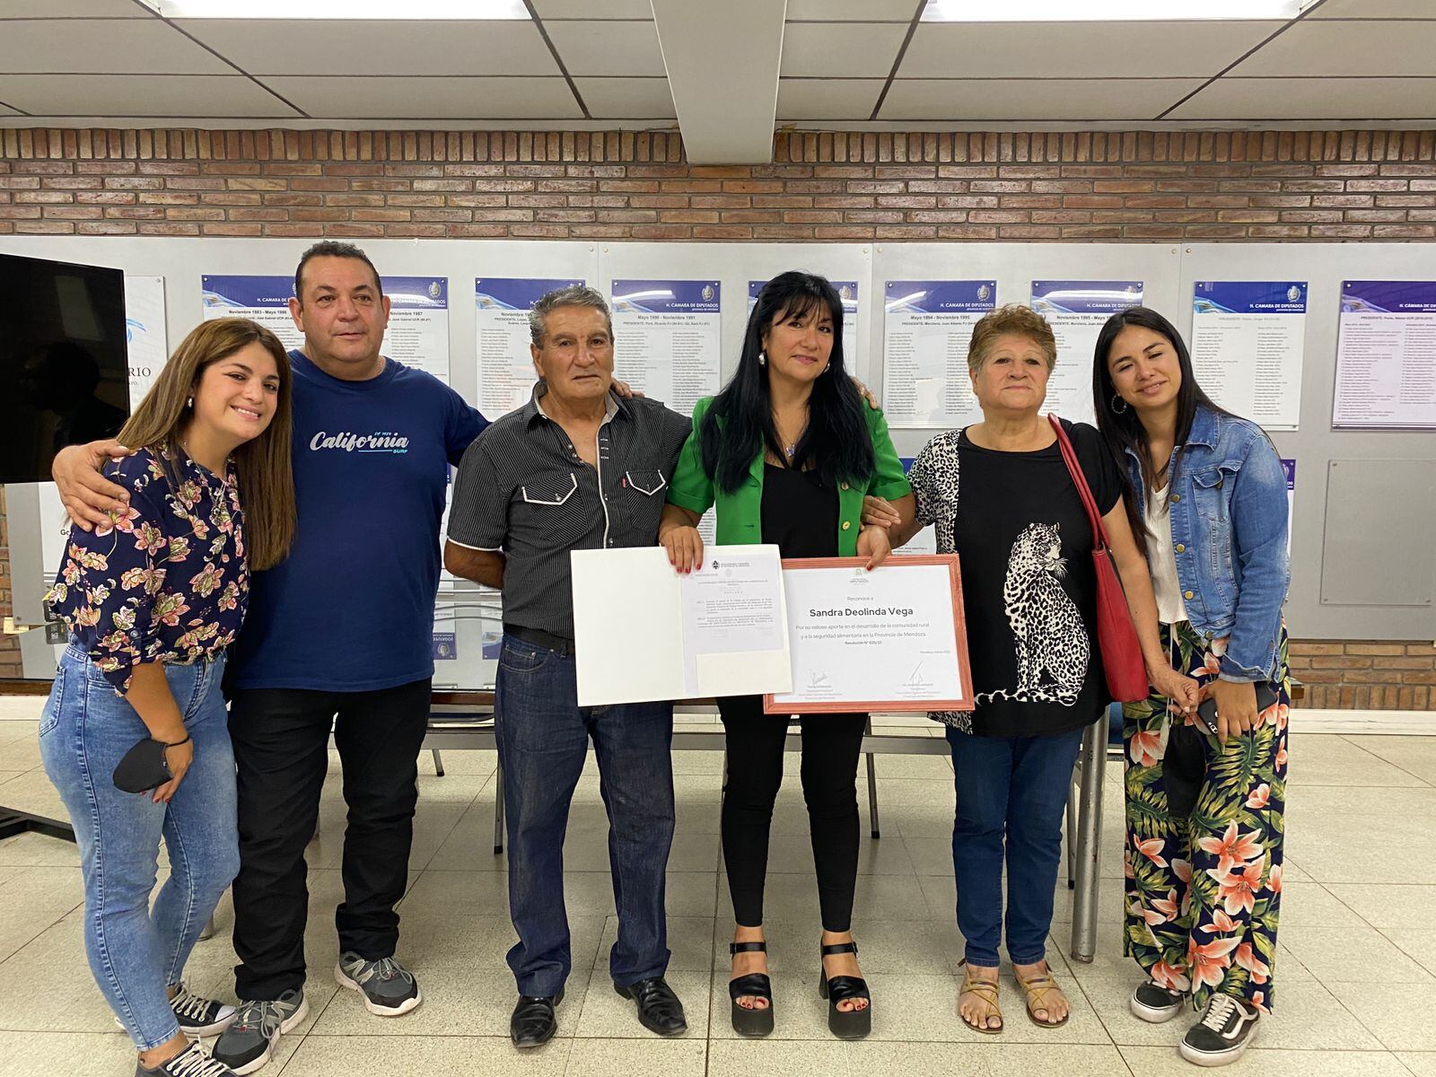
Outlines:
[{"label": "long black hair of the woman in the green blazer", "polygon": [[811,468],[826,484],[839,480],[860,482],[873,472],[873,441],[863,416],[866,405],[843,366],[843,300],[826,277],[790,270],[770,280],[758,293],[742,333],[738,369],[714,398],[699,428],[704,471],[725,494],[742,485],[754,454],[764,447],[773,449],[778,460],[785,460],[773,424],[768,370],[758,362],[764,332],[780,317],[803,317],[823,306],[833,319],[833,353],[827,370],[813,382],[808,425],[788,465]]}]

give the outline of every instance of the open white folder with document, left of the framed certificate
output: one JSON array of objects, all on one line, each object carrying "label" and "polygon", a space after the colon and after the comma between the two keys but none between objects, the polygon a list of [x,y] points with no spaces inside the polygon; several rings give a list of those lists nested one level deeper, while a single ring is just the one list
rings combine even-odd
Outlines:
[{"label": "open white folder with document, left of the framed certificate", "polygon": [[570,557],[580,707],[793,688],[777,546],[708,546],[688,574],[661,546]]}]

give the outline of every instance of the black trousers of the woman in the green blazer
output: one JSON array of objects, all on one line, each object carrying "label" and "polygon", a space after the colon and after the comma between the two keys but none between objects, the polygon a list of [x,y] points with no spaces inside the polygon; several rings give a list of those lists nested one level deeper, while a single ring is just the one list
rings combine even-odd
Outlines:
[{"label": "black trousers of the woman in the green blazer", "polygon": [[[783,784],[787,715],[764,714],[763,696],[718,699],[728,745],[722,801],[722,854],[734,916],[745,928],[763,923],[773,804]],[[857,757],[866,714],[806,714],[803,800],[808,810],[823,929],[850,931],[857,885]]]}]

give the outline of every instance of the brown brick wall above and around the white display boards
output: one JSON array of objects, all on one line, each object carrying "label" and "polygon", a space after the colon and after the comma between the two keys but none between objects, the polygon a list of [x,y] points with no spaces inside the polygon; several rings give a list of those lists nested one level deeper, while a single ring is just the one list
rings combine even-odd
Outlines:
[{"label": "brown brick wall above and around the white display boards", "polygon": [[[0,234],[864,241],[1436,240],[1436,132],[0,131]],[[0,613],[9,613],[0,516]],[[0,676],[17,669],[0,640]],[[1314,707],[1436,707],[1436,652],[1300,642]]]}]

